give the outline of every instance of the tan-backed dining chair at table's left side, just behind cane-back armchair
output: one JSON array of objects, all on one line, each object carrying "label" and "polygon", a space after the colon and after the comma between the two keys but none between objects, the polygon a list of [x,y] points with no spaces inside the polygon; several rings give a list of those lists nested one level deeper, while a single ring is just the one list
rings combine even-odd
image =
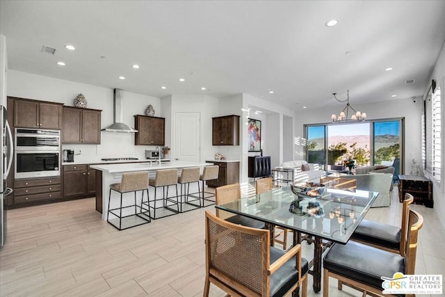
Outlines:
[{"label": "tan-backed dining chair at table's left side, just behind cane-back armchair", "polygon": [[[240,200],[241,186],[240,184],[227,184],[226,186],[218,186],[218,188],[215,189],[215,193],[216,205]],[[240,224],[252,228],[264,229],[264,227],[266,227],[266,224],[259,220],[254,220],[253,218],[248,218],[246,216],[240,216],[238,214],[234,215],[221,209],[216,209],[216,216],[231,223]]]}]

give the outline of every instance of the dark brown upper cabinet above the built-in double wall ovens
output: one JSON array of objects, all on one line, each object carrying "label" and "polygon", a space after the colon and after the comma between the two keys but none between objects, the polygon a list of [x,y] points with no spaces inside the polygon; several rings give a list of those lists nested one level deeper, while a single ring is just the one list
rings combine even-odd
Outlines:
[{"label": "dark brown upper cabinet above the built-in double wall ovens", "polygon": [[62,103],[14,99],[14,127],[60,129]]}]

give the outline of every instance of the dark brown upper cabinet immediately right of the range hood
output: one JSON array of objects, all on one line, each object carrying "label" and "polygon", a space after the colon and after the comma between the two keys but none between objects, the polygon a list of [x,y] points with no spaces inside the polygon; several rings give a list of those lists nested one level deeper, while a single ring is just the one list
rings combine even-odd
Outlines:
[{"label": "dark brown upper cabinet immediately right of the range hood", "polygon": [[165,145],[165,118],[134,116],[135,145]]}]

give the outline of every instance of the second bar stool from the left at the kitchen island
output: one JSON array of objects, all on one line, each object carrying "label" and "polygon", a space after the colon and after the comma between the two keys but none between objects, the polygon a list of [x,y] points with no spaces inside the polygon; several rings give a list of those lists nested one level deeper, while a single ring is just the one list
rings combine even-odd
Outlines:
[{"label": "second bar stool from the left at the kitchen island", "polygon": [[[147,198],[147,202],[143,201],[141,204],[141,207],[143,206],[143,204],[145,204],[145,205],[147,205],[147,207],[149,207],[149,209],[153,209],[152,218],[154,220],[156,220],[157,218],[163,218],[165,216],[172,216],[174,214],[179,213],[177,180],[178,180],[178,170],[175,168],[156,170],[155,177],[149,178],[148,185],[154,187],[154,200],[149,200],[149,198]],[[168,188],[170,186],[176,187],[176,196],[168,197]],[[157,198],[157,196],[156,196],[156,194],[157,194],[156,190],[159,187],[162,187],[162,192],[163,192],[162,198]],[[165,187],[167,188],[167,191],[165,191]],[[173,198],[176,198],[176,200],[174,200]],[[156,202],[158,202],[158,201],[162,201],[161,207],[156,206],[156,204],[157,204]],[[176,205],[176,209],[173,209],[172,207],[175,207],[175,205]],[[162,209],[161,215],[156,216],[156,209]],[[159,212],[160,211],[158,211],[158,213]]]}]

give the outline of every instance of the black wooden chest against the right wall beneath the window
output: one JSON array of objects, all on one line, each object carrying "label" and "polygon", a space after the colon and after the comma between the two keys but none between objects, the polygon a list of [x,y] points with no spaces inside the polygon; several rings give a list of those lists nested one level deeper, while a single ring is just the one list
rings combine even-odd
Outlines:
[{"label": "black wooden chest against the right wall beneath the window", "polygon": [[432,207],[432,182],[426,177],[414,175],[398,176],[398,200],[403,202],[405,193],[414,196],[414,203],[424,204],[426,207]]}]

